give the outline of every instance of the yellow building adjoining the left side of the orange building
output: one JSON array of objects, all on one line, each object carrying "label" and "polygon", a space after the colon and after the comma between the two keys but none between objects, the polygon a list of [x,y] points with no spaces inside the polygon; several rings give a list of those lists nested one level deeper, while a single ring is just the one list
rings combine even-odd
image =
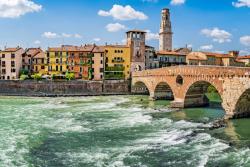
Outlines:
[{"label": "yellow building adjoining the left side of the orange building", "polygon": [[67,68],[67,46],[48,48],[46,55],[46,72],[48,75],[64,76]]}]

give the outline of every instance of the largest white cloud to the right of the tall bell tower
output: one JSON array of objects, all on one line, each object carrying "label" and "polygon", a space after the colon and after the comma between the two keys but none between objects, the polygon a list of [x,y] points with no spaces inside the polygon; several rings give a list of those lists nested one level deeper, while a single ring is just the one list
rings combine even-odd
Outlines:
[{"label": "largest white cloud to the right of the tall bell tower", "polygon": [[232,37],[232,34],[225,30],[220,30],[219,28],[203,29],[201,30],[201,34],[208,38],[212,38],[214,42],[218,43],[231,42]]}]

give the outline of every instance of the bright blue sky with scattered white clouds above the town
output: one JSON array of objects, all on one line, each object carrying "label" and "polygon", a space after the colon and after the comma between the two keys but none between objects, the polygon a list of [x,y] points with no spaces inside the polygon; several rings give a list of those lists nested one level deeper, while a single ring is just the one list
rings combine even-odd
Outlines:
[{"label": "bright blue sky with scattered white clouds above the town", "polygon": [[163,8],[174,48],[250,54],[250,0],[0,0],[0,49],[122,44],[130,29],[158,49]]}]

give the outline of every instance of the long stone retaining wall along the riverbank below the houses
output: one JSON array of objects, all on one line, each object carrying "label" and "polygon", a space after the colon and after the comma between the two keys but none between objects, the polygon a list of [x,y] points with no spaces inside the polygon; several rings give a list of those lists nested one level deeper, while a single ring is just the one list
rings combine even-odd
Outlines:
[{"label": "long stone retaining wall along the riverbank below the houses", "polygon": [[129,81],[0,81],[1,96],[98,96],[130,93]]}]

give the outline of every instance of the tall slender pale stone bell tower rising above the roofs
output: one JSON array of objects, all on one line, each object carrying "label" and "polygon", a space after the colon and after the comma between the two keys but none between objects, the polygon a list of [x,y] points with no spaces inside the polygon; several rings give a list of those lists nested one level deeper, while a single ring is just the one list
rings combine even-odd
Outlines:
[{"label": "tall slender pale stone bell tower rising above the roofs", "polygon": [[172,50],[172,26],[169,9],[163,9],[161,12],[160,27],[160,51]]}]

